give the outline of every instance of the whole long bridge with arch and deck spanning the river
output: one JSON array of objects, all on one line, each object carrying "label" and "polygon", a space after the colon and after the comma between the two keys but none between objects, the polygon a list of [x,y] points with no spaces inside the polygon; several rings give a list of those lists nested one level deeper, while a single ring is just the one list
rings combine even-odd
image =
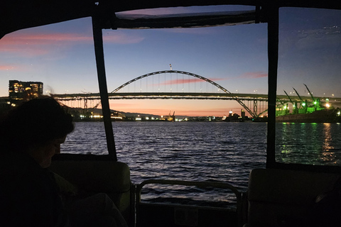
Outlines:
[{"label": "whole long bridge with arch and deck spanning the river", "polygon": [[[131,92],[131,90],[133,90],[133,92]],[[100,99],[99,93],[54,94],[54,97],[65,104],[67,104],[68,101],[78,102],[79,104],[83,103],[83,108],[85,109],[97,108],[100,104],[100,102],[97,101]],[[301,98],[312,101],[310,96],[301,96]],[[151,72],[129,80],[129,82],[122,84],[109,93],[109,99],[234,100],[237,101],[252,117],[257,117],[267,111],[268,95],[231,93],[220,84],[198,74],[177,70],[166,70]],[[285,95],[278,95],[277,99],[282,102],[289,101],[288,96]],[[292,96],[291,99],[297,100],[298,97]],[[88,101],[92,101],[92,105],[89,106]],[[339,101],[341,102],[341,100]]]}]

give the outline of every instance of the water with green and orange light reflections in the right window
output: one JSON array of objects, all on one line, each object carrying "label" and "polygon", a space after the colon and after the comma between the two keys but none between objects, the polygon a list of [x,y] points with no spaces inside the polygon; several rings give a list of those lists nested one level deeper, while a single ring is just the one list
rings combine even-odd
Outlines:
[{"label": "water with green and orange light reflections in the right window", "polygon": [[309,165],[340,165],[340,124],[278,123],[276,160]]}]

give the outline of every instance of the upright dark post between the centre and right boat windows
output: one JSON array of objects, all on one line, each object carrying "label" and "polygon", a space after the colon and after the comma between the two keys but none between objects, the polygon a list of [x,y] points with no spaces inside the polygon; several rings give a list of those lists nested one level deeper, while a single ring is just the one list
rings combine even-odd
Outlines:
[{"label": "upright dark post between the centre and right boat windows", "polygon": [[266,167],[274,167],[276,148],[276,95],[278,67],[278,6],[269,6],[268,16],[268,134]]}]

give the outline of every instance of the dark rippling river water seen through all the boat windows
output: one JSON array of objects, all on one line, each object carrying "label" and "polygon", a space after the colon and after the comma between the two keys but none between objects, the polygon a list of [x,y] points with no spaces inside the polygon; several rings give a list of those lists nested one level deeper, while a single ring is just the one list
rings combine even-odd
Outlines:
[{"label": "dark rippling river water seen through all the boat windows", "polygon": [[[62,145],[63,153],[107,153],[102,122],[77,122]],[[180,179],[227,182],[247,189],[250,170],[265,167],[266,123],[232,122],[113,122],[117,157],[131,170],[131,182]],[[279,162],[339,165],[341,125],[278,123]],[[144,198],[163,196],[231,201],[223,189],[146,186]],[[173,193],[173,194],[172,194]],[[228,196],[227,196],[228,194]]]}]

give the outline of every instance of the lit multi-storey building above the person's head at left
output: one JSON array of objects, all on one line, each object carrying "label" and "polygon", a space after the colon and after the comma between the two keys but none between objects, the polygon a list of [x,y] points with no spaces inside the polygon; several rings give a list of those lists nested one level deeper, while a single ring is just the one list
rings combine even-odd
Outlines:
[{"label": "lit multi-storey building above the person's head at left", "polygon": [[9,99],[11,103],[26,101],[43,94],[43,82],[9,81]]}]

